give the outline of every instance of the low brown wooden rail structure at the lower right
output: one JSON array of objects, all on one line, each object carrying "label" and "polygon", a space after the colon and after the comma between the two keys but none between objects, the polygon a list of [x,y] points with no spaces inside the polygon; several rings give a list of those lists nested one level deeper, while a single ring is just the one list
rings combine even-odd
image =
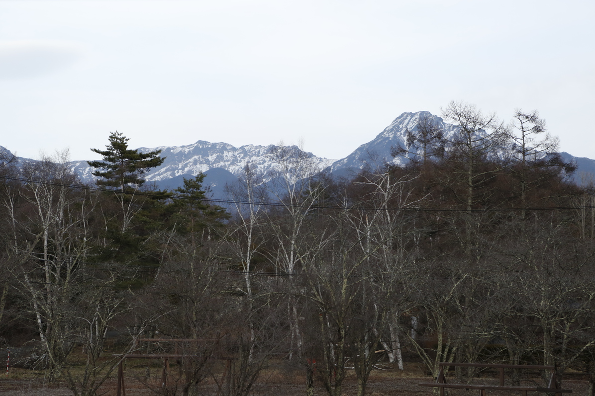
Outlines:
[{"label": "low brown wooden rail structure at the lower right", "polygon": [[[448,384],[446,382],[446,376],[444,376],[444,366],[458,366],[458,367],[488,367],[493,369],[499,369],[499,385],[488,385],[488,384]],[[483,363],[439,363],[440,371],[436,382],[422,382],[418,385],[421,386],[432,386],[434,388],[440,388],[440,396],[444,396],[445,388],[456,388],[456,389],[478,389],[480,396],[487,396],[486,391],[519,391],[522,396],[527,396],[527,392],[548,392],[556,394],[556,396],[562,396],[562,393],[572,393],[571,389],[562,389],[556,378],[556,370],[554,366],[528,366],[525,364],[483,364]],[[552,370],[552,376],[550,377],[547,388],[543,386],[512,386],[505,385],[504,381],[504,370],[505,369],[534,369],[534,370]]]}]

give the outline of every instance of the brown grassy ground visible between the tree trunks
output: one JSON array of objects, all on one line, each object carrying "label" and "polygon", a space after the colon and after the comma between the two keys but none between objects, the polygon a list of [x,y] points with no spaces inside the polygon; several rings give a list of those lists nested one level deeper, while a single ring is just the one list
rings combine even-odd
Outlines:
[{"label": "brown grassy ground visible between the tree trunks", "polygon": [[[146,374],[149,374],[148,379]],[[142,375],[141,375],[142,374]],[[411,363],[406,366],[405,371],[400,370],[374,370],[372,371],[366,394],[369,396],[431,396],[432,388],[419,386],[419,382],[433,382],[431,378],[421,376],[422,372],[417,364]],[[160,388],[161,370],[159,367],[151,367],[151,371],[146,367],[134,371],[134,367],[126,371],[124,382],[126,384],[126,396],[154,396],[162,395],[164,392]],[[573,376],[574,377],[574,376]],[[175,379],[169,380],[170,392],[175,387]],[[486,384],[496,381],[490,376],[476,379],[478,384]],[[527,379],[528,383],[541,383],[540,379]],[[320,382],[315,381],[315,395],[322,396],[326,392]],[[588,382],[580,377],[565,379],[563,388],[572,389],[572,394],[583,396],[587,395]],[[357,383],[353,371],[349,372],[345,384],[343,385],[343,395],[355,396],[357,393]],[[105,396],[117,395],[117,377],[112,375],[102,386],[98,394]],[[181,395],[181,389],[176,392]],[[212,380],[205,380],[198,386],[198,395],[218,395],[217,386]],[[253,386],[250,395],[253,396],[303,396],[306,394],[305,378],[299,370],[271,369],[264,372],[259,381]],[[478,391],[465,389],[451,389],[447,392],[449,396],[471,396],[477,395]],[[496,392],[488,391],[490,396],[516,395],[518,392]],[[44,379],[43,372],[32,372],[32,370],[11,368],[7,377],[0,378],[0,396],[71,396],[73,392],[68,390],[62,381],[48,384]],[[544,394],[545,395],[545,394]]]}]

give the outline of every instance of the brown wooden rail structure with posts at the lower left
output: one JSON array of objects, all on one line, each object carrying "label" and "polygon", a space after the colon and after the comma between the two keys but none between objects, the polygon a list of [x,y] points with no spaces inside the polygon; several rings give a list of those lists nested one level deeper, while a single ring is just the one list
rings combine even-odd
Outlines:
[{"label": "brown wooden rail structure with posts at the lower left", "polygon": [[[173,354],[127,354],[122,356],[122,360],[118,364],[118,385],[117,385],[117,396],[126,396],[126,388],[124,386],[124,360],[126,359],[163,359],[163,369],[161,370],[161,388],[165,389],[167,386],[167,371],[170,368],[170,359],[177,359],[183,360],[184,358],[189,357],[196,357],[197,355],[192,354],[180,354],[178,353],[178,344],[179,342],[206,342],[206,341],[214,341],[214,340],[206,340],[203,338],[139,338],[140,342],[175,342],[175,352]],[[135,341],[135,347],[136,341]],[[119,355],[114,355],[119,356]],[[227,376],[227,373],[231,369],[231,361],[234,360],[233,357],[214,357],[214,359],[220,360],[227,360],[227,364],[225,366],[222,380]],[[186,363],[187,364],[187,363]],[[186,376],[186,383],[190,382],[190,372],[189,367],[184,367],[184,374]]]}]

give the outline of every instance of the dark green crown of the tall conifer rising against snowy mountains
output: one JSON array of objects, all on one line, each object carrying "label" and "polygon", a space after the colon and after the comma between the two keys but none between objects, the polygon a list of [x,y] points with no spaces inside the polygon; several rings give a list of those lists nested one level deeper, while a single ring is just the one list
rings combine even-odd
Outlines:
[{"label": "dark green crown of the tall conifer rising against snowy mountains", "polygon": [[109,134],[109,144],[106,150],[91,149],[92,152],[104,156],[102,161],[89,161],[89,166],[99,170],[93,175],[99,177],[98,186],[111,190],[124,192],[129,188],[138,188],[145,183],[142,175],[151,168],[163,164],[165,158],[161,158],[161,150],[148,153],[139,153],[139,150],[130,150],[128,141],[118,131]]}]

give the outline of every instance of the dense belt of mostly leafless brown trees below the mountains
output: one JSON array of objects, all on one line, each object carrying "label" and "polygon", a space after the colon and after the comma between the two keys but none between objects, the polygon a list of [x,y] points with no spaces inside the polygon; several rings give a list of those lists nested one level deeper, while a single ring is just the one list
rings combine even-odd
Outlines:
[{"label": "dense belt of mostly leafless brown trees below the mountains", "polygon": [[450,103],[443,117],[456,139],[420,120],[393,147],[408,165],[351,180],[278,146],[277,171],[263,180],[247,166],[228,202],[208,199],[202,174],[147,186],[159,152],[118,133],[94,150],[95,186],[65,158],[5,156],[4,346],[27,347],[19,364],[77,395],[94,395],[141,338],[184,340],[184,394],[233,359],[227,395],[250,394],[273,361],[302,370],[307,395],[341,395],[347,370],[364,395],[378,363],[404,360],[428,376],[439,362],[555,364],[588,375],[593,395],[592,184],[569,181],[537,112],[504,124]]}]

